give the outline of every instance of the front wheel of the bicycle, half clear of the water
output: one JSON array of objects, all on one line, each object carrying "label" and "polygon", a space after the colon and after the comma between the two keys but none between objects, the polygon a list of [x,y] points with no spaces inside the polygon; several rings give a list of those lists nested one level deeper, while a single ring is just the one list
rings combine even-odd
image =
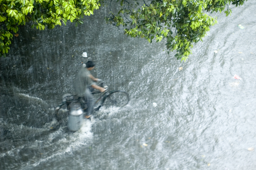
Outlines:
[{"label": "front wheel of the bicycle, half clear of the water", "polygon": [[124,107],[130,101],[127,92],[122,90],[113,90],[104,96],[102,105],[105,107]]}]

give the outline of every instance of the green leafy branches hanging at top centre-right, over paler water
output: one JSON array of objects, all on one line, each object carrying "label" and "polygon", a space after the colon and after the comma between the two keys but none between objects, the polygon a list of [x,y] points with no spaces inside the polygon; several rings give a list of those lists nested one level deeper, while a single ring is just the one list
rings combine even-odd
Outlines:
[{"label": "green leafy branches hanging at top centre-right, over paler water", "polygon": [[[111,0],[112,1],[112,0]],[[119,0],[117,0],[118,2]],[[141,37],[149,43],[155,39],[160,42],[166,38],[166,50],[176,50],[175,57],[186,61],[193,43],[197,43],[217,23],[215,17],[207,12],[231,14],[229,4],[240,6],[245,0],[120,0],[118,13],[111,12],[107,23],[125,27],[125,34]],[[247,1],[247,0],[246,0]],[[111,4],[111,3],[110,3]]]}]

